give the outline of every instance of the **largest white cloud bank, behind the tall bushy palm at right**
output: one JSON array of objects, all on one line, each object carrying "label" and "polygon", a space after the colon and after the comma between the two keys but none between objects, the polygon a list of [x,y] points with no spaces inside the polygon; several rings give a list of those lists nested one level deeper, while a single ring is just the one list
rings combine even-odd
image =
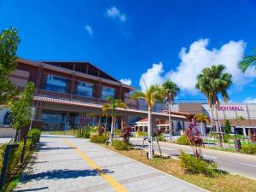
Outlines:
[{"label": "largest white cloud bank, behind the tall bushy palm at right", "polygon": [[[174,81],[182,90],[189,91],[189,93],[195,94],[196,76],[201,73],[205,67],[211,67],[212,65],[224,64],[227,67],[226,72],[232,74],[232,81],[236,88],[241,88],[243,85],[253,81],[255,73],[252,70],[248,70],[247,73],[241,73],[237,64],[241,61],[246,43],[244,41],[230,41],[224,44],[220,49],[207,49],[209,39],[200,39],[190,44],[189,49],[182,48],[179,52],[181,62],[178,64],[175,70],[167,73],[163,73],[162,64],[159,65],[159,73],[154,75],[148,75],[157,67],[148,69],[147,73],[143,73],[142,77],[152,77],[152,82],[162,83],[166,79]],[[151,71],[150,71],[151,70]],[[154,79],[158,79],[154,81]],[[242,79],[242,80],[241,80]],[[141,84],[141,88],[144,89]]]}]

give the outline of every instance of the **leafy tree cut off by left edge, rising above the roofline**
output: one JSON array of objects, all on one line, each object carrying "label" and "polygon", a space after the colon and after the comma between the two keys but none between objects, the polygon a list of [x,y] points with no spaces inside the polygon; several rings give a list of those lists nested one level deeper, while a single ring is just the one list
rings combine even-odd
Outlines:
[{"label": "leafy tree cut off by left edge, rising above the roofline", "polygon": [[16,28],[9,28],[0,33],[0,104],[18,94],[15,85],[9,80],[9,74],[15,70],[16,51],[20,38]]}]

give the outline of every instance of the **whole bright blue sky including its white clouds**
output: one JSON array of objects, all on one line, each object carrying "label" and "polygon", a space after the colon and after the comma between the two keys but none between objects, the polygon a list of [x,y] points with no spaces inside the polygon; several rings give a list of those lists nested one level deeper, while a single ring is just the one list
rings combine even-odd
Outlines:
[{"label": "whole bright blue sky including its white clouds", "polygon": [[222,62],[236,76],[230,100],[256,102],[256,72],[235,68],[256,49],[255,18],[255,0],[0,0],[0,29],[19,29],[20,57],[90,61],[139,89],[142,77],[171,78],[179,99],[203,98],[195,73]]}]

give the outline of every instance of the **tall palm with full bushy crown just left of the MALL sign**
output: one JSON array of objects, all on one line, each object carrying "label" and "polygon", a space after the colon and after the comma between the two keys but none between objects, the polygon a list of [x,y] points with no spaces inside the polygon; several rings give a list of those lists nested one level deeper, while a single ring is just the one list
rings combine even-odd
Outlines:
[{"label": "tall palm with full bushy crown just left of the MALL sign", "polygon": [[[222,133],[219,130],[218,125],[218,96],[221,95],[224,98],[224,102],[228,102],[230,97],[227,90],[232,84],[232,75],[230,73],[224,73],[226,67],[224,65],[212,66],[205,68],[197,76],[197,84],[195,87],[207,97],[207,101],[213,111],[215,117],[213,118],[218,132],[218,147],[222,148]],[[212,116],[214,116],[212,114]]]}]

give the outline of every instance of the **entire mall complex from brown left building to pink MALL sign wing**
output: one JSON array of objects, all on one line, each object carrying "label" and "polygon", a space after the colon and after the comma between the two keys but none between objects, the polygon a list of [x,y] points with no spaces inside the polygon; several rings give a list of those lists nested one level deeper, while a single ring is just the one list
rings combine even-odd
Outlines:
[{"label": "entire mall complex from brown left building to pink MALL sign wing", "polygon": [[[109,129],[111,117],[102,116],[102,104],[108,96],[126,103],[126,109],[117,109],[116,127],[132,125],[135,131],[147,131],[147,103],[132,100],[131,92],[136,90],[104,73],[88,61],[29,61],[19,58],[15,72],[9,79],[20,90],[28,81],[35,84],[32,126],[42,131],[77,129],[84,125],[104,125]],[[198,113],[211,118],[211,108],[203,102],[179,102],[172,106],[172,127],[174,134],[184,130]],[[153,127],[168,131],[168,112],[165,103],[153,107]],[[218,118],[221,124],[230,119],[231,125],[241,128],[236,119],[243,116],[247,128],[256,127],[256,104],[221,105]],[[0,110],[0,128],[9,127],[9,111]],[[209,127],[209,125],[207,125]],[[0,137],[1,137],[0,129]]]}]

